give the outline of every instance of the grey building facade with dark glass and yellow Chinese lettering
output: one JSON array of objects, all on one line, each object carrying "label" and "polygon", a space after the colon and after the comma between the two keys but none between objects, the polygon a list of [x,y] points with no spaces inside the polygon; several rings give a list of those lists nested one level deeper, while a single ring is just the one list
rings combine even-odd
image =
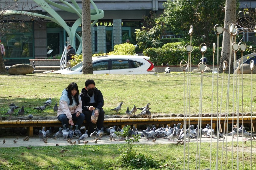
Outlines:
[{"label": "grey building facade with dark glass and yellow Chinese lettering", "polygon": [[[58,0],[51,1],[64,5]],[[72,4],[69,0],[66,2]],[[81,0],[76,0],[76,2],[81,9]],[[140,29],[144,24],[143,17],[148,16],[151,11],[161,14],[163,2],[164,0],[95,0],[94,3],[97,8],[104,11],[104,17],[92,27],[92,52],[109,52],[113,50],[115,44],[123,43],[126,40],[123,38],[127,37],[133,43],[136,39],[135,30]],[[0,2],[0,5],[4,8],[10,3]],[[47,15],[47,12],[33,0],[13,3],[20,3],[20,6],[24,4],[27,6],[34,5],[36,13]],[[76,14],[60,10],[54,6],[52,8],[70,27],[78,19]],[[91,9],[93,9],[92,5]],[[59,56],[63,53],[64,47],[70,43],[67,32],[50,20],[27,20],[20,28],[14,25],[15,23],[10,23],[8,31],[1,37],[1,43],[4,44],[6,51],[3,58],[5,65],[29,63],[29,59]],[[81,36],[81,26],[76,29],[76,33]],[[80,42],[76,39],[74,48],[77,49],[79,45]]]}]

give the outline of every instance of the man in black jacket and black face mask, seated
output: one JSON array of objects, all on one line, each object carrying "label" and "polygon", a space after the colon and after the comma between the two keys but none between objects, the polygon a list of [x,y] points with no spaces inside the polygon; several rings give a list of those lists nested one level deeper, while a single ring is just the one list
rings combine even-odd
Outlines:
[{"label": "man in black jacket and black face mask, seated", "polygon": [[92,111],[95,109],[95,116],[98,117],[97,128],[101,129],[103,127],[105,112],[102,107],[104,105],[103,95],[100,90],[95,88],[94,80],[86,80],[85,88],[82,89],[80,93],[80,97],[82,99],[82,108],[83,114],[85,115],[86,120],[86,129],[88,129],[89,133],[94,132],[94,126],[91,122]]}]

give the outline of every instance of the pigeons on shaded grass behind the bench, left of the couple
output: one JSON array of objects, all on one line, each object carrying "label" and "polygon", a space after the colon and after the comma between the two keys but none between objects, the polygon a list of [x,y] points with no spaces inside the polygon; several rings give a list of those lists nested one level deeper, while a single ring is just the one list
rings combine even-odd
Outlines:
[{"label": "pigeons on shaded grass behind the bench, left of the couple", "polygon": [[[43,104],[45,104],[45,105],[40,106],[40,107],[36,107],[36,108],[34,108],[34,109],[36,109],[36,110],[38,110],[38,111],[43,111],[43,110],[45,110],[45,108],[46,108],[47,106],[50,107],[50,105],[52,104],[52,99],[49,98],[49,99],[48,99],[46,102],[44,102]],[[11,104],[9,105],[9,108],[10,108],[10,109],[9,109],[5,114],[8,114],[8,115],[11,117],[11,115],[14,113],[15,109],[20,108],[20,106],[16,106],[15,104],[11,103]],[[54,113],[58,111],[58,105],[57,105],[57,103],[56,103],[55,106],[53,107],[53,111],[54,111]],[[22,116],[24,113],[25,113],[24,106],[22,106],[21,109],[18,110],[18,116]],[[31,114],[28,115],[28,118],[29,118],[29,120],[31,120],[31,119],[33,118],[33,115],[31,115]],[[10,120],[10,119],[9,119],[9,120]]]}]

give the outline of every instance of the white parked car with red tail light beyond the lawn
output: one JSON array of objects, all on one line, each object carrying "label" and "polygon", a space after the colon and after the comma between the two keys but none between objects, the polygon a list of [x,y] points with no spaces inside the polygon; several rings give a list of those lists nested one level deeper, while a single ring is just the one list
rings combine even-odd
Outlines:
[{"label": "white parked car with red tail light beyond the lawn", "polygon": [[[92,57],[93,74],[155,74],[155,66],[148,56],[97,56]],[[72,68],[53,71],[61,74],[82,74],[83,62]]]}]

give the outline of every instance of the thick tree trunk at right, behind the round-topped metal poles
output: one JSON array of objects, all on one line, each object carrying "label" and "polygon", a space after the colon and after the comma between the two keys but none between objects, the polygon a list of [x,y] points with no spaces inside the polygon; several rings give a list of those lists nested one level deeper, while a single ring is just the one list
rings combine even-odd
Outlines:
[{"label": "thick tree trunk at right, behind the round-topped metal poles", "polygon": [[[226,0],[226,7],[225,7],[225,19],[224,19],[224,31],[223,31],[223,40],[222,40],[222,49],[221,49],[221,56],[220,56],[220,66],[219,66],[219,73],[223,72],[222,64],[223,61],[227,61],[227,68],[225,73],[229,71],[229,63],[230,63],[230,73],[233,73],[233,51],[231,54],[231,61],[229,61],[229,54],[230,54],[230,33],[229,33],[229,24],[236,23],[236,0]],[[233,40],[234,42],[234,40]]]}]

